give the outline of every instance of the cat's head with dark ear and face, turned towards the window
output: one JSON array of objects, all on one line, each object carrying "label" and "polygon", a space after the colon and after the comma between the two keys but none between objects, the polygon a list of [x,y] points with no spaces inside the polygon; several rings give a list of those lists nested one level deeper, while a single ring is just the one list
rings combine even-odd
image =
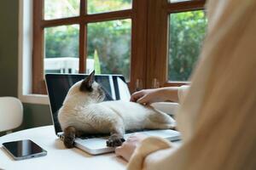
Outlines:
[{"label": "cat's head with dark ear and face, turned towards the window", "polygon": [[100,84],[95,81],[95,71],[92,71],[84,80],[76,82],[68,91],[67,98],[76,98],[80,102],[102,102],[105,93]]}]

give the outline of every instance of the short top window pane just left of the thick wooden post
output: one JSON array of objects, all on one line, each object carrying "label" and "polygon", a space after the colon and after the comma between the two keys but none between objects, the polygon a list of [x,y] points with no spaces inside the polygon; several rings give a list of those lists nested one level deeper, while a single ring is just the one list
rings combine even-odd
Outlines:
[{"label": "short top window pane just left of the thick wooden post", "polygon": [[87,0],[87,13],[106,13],[131,8],[132,0]]}]

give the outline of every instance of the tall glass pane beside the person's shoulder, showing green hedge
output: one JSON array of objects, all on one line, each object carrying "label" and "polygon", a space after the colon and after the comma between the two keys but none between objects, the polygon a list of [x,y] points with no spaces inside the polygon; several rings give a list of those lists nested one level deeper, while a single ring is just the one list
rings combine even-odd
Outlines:
[{"label": "tall glass pane beside the person's shoulder, showing green hedge", "polygon": [[171,81],[187,81],[201,51],[207,19],[204,11],[190,11],[170,16],[169,68]]}]

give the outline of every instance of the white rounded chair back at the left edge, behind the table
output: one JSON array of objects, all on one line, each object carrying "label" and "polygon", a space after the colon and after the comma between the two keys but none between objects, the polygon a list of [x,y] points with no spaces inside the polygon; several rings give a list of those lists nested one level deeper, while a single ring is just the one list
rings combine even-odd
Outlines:
[{"label": "white rounded chair back at the left edge, behind the table", "polygon": [[23,121],[23,106],[20,99],[0,97],[0,132],[12,132]]}]

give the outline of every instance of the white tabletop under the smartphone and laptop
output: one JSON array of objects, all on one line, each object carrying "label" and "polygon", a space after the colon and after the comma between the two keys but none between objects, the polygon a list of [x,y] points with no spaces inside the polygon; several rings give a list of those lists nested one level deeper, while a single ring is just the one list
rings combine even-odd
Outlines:
[{"label": "white tabletop under the smartphone and laptop", "polygon": [[[14,161],[2,144],[8,141],[32,139],[44,150],[47,156],[21,161]],[[119,170],[125,169],[126,161],[113,153],[90,156],[77,148],[66,149],[62,141],[55,136],[53,126],[36,127],[0,137],[0,169],[86,169],[86,170]]]}]

